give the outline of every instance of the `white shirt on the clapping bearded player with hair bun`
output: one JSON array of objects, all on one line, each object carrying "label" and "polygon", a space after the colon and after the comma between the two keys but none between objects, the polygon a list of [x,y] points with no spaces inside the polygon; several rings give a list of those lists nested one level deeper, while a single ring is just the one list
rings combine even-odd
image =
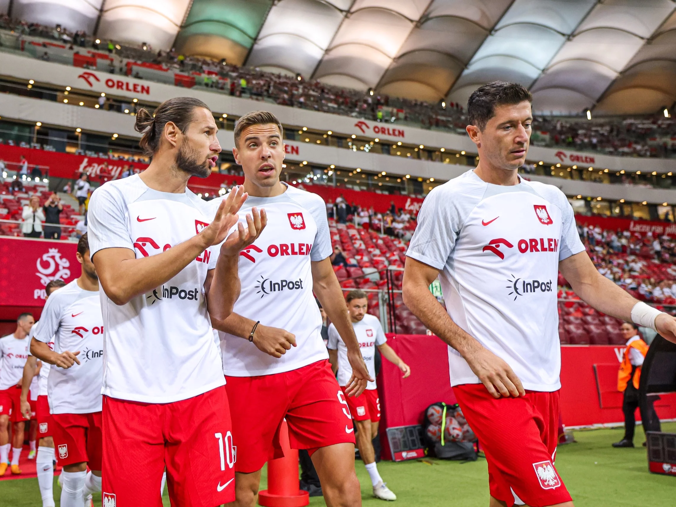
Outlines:
[{"label": "white shirt on the clapping bearded player with hair bun", "polygon": [[[197,235],[211,221],[189,189],[150,189],[138,174],[101,185],[89,202],[91,257],[105,248],[154,256]],[[170,403],[225,385],[207,312],[204,281],[218,250],[199,254],[174,278],[118,306],[101,291],[105,326],[103,394]]]}]

